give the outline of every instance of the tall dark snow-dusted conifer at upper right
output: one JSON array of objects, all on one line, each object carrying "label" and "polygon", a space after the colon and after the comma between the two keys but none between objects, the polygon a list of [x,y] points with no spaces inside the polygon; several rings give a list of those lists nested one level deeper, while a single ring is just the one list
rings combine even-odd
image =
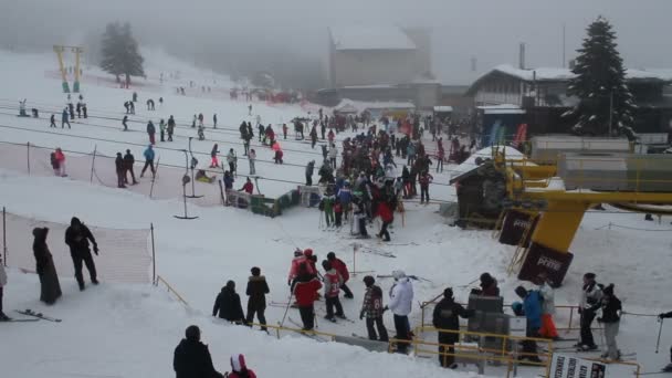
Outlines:
[{"label": "tall dark snow-dusted conifer at upper right", "polygon": [[[619,132],[632,136],[636,108],[626,83],[626,70],[616,43],[616,33],[605,18],[599,17],[588,29],[573,72],[576,77],[567,93],[579,104],[568,114],[578,118],[574,130],[579,135],[608,135]],[[610,114],[611,113],[611,114]]]}]

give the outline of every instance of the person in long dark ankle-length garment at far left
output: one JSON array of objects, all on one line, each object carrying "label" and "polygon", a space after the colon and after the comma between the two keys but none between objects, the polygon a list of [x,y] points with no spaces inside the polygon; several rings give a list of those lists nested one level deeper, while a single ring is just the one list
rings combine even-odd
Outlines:
[{"label": "person in long dark ankle-length garment at far left", "polygon": [[[53,305],[61,297],[62,293],[54,260],[46,245],[48,233],[48,228],[33,229],[33,237],[35,238],[33,241],[33,253],[36,263],[35,271],[40,276],[40,301],[48,305]],[[2,308],[0,308],[0,313],[2,313]]]}]

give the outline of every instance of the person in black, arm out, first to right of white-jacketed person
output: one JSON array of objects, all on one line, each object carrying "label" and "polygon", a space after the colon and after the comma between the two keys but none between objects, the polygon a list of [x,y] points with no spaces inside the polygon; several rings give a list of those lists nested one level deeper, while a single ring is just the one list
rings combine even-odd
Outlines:
[{"label": "person in black, arm out, first to right of white-jacketed person", "polygon": [[[460,330],[460,317],[472,317],[474,315],[473,309],[464,309],[461,304],[455,303],[453,298],[453,290],[452,287],[448,287],[443,291],[443,300],[437,304],[434,307],[434,313],[432,317],[432,324],[438,329],[450,329],[450,330]],[[455,356],[447,356],[444,353],[454,354],[455,348],[452,347],[456,342],[460,340],[460,334],[458,333],[439,333],[439,361],[442,367],[449,367],[454,369],[456,364],[454,364]],[[443,347],[443,345],[450,345],[448,348]],[[448,349],[448,350],[445,350]]]}]

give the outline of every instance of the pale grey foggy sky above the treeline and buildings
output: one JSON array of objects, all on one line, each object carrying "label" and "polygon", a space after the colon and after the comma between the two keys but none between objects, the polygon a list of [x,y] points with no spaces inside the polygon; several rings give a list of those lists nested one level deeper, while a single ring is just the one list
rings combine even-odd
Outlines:
[{"label": "pale grey foggy sky above the treeline and buildings", "polygon": [[190,62],[301,77],[326,72],[329,25],[426,27],[438,78],[469,84],[515,64],[521,42],[527,66],[561,66],[563,24],[569,60],[599,14],[615,25],[627,66],[672,67],[670,0],[0,0],[0,48],[82,43],[128,21],[141,45]]}]

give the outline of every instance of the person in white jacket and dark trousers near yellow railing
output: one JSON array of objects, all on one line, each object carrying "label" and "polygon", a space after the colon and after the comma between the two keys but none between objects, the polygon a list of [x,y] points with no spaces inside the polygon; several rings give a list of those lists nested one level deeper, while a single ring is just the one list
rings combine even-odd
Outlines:
[{"label": "person in white jacket and dark trousers near yellow railing", "polygon": [[[386,308],[392,311],[395,315],[395,329],[397,330],[396,339],[410,340],[410,323],[408,315],[411,313],[413,304],[413,285],[406,276],[403,271],[393,271],[395,284],[390,288],[390,303]],[[406,353],[408,344],[399,343],[397,351]]]}]

